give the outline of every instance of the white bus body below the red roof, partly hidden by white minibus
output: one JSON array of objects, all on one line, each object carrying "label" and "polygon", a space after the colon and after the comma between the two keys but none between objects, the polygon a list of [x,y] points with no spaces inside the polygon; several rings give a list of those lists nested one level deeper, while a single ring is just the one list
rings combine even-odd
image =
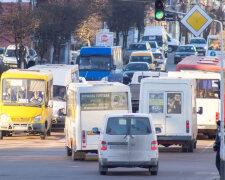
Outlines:
[{"label": "white bus body below the red roof, partly hidden by white minibus", "polygon": [[169,71],[169,77],[193,78],[196,82],[196,107],[202,108],[197,114],[198,133],[215,138],[218,114],[220,112],[219,82],[220,73],[182,70]]}]

